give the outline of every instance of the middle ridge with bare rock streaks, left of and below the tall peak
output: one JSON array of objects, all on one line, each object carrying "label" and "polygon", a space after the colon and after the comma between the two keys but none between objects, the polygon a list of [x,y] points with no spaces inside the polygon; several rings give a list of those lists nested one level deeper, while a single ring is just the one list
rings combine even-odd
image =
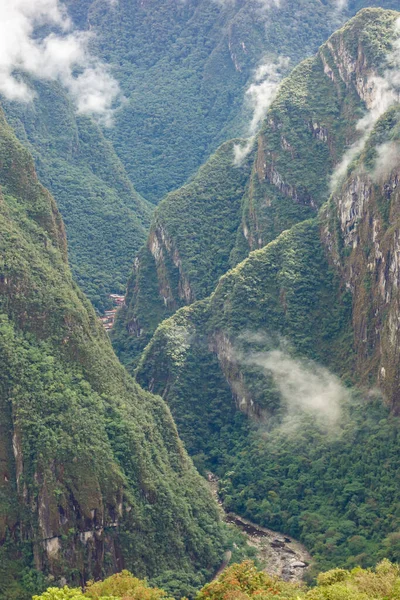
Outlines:
[{"label": "middle ridge with bare rock streaks, left of and below the tall peak", "polygon": [[234,143],[223,144],[155,211],[113,329],[114,346],[126,364],[135,361],[163,319],[211,293],[230,267],[250,172],[249,164],[233,164]]}]

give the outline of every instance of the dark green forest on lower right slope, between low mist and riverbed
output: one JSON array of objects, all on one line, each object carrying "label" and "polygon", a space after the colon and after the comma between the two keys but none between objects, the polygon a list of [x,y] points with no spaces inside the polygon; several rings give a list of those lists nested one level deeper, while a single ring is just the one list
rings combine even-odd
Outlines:
[{"label": "dark green forest on lower right slope, between low mist and riverbed", "polygon": [[256,430],[221,482],[227,509],[302,540],[318,570],[393,559],[399,425],[381,399],[359,398],[330,434],[305,419]]}]

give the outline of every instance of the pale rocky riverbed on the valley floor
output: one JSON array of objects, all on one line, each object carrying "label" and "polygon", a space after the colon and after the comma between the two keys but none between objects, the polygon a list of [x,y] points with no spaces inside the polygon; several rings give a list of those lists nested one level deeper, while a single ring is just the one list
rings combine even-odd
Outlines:
[{"label": "pale rocky riverbed on the valley floor", "polygon": [[[247,537],[248,544],[257,548],[258,559],[265,565],[264,571],[270,575],[277,575],[285,581],[301,581],[311,562],[311,557],[304,546],[286,535],[256,525],[239,515],[226,513],[218,496],[218,479],[212,473],[208,473],[207,478],[224,520],[238,527]],[[225,556],[224,563],[226,558]],[[218,575],[225,566],[226,564],[221,566]]]}]

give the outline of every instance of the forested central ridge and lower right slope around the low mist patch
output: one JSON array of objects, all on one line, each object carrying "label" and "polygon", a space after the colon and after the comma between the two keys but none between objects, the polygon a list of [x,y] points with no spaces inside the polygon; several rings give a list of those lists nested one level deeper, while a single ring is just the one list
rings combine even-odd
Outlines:
[{"label": "forested central ridge and lower right slope around the low mist patch", "polygon": [[247,360],[280,348],[354,381],[351,296],[318,230],[311,221],[285,232],[162,323],[137,377],[167,400],[197,466],[220,476],[228,510],[303,541],[316,569],[370,566],[398,560],[398,418],[355,392],[335,425],[293,414],[271,372]]}]

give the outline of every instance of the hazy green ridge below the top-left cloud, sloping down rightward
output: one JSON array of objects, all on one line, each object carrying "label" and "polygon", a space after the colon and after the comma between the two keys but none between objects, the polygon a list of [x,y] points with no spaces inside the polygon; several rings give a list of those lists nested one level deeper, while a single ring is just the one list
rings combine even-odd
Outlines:
[{"label": "hazy green ridge below the top-left cloud, sloping down rightward", "polygon": [[3,103],[66,225],[75,280],[102,311],[122,293],[151,209],[134,190],[110,142],[57,83],[32,82],[32,103]]}]

